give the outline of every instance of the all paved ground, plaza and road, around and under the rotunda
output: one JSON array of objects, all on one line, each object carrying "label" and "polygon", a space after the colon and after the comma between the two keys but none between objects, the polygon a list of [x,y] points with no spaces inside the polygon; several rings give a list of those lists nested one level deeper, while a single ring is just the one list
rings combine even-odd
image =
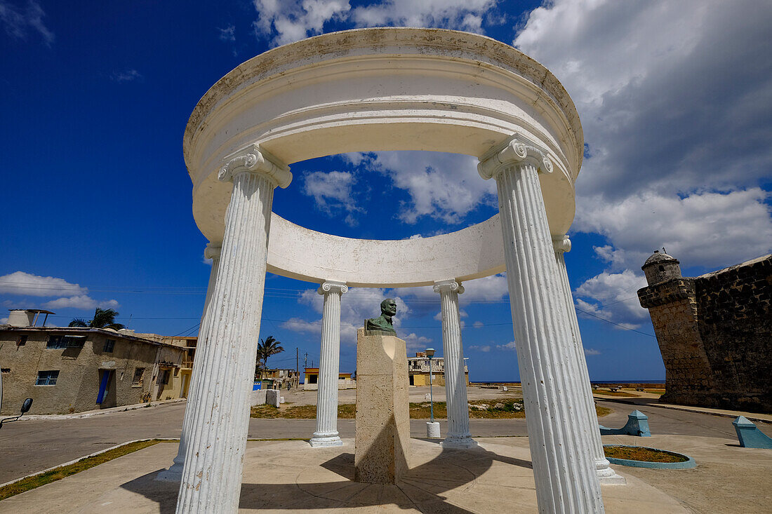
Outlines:
[{"label": "all paved ground, plaza and road, around and under the rotunda", "polygon": [[[353,391],[352,391],[353,392]],[[442,398],[442,388],[435,388]],[[411,388],[411,401],[424,391]],[[510,391],[509,394],[512,394]],[[516,393],[514,393],[516,394]],[[503,393],[469,388],[470,399]],[[315,394],[299,393],[303,397]],[[482,397],[482,398],[481,398]],[[289,401],[289,398],[288,398]],[[343,397],[340,403],[350,403]],[[604,443],[681,451],[689,470],[615,466],[628,485],[603,487],[606,512],[772,512],[772,450],[740,448],[730,418],[655,404],[598,401],[614,411],[601,418],[621,427],[633,408],[648,415],[651,438],[604,436]],[[185,404],[113,412],[83,419],[39,419],[0,432],[0,482],[139,438],[178,438]],[[305,441],[249,441],[244,512],[536,512],[524,419],[472,419],[473,451],[443,451],[426,441],[425,420],[411,420],[412,468],[398,486],[365,486],[353,478],[354,420],[339,420],[341,448]],[[446,431],[441,420],[442,433]],[[250,438],[308,438],[315,421],[252,419]],[[770,433],[769,424],[760,428]],[[161,443],[0,502],[2,512],[173,512],[177,486],[155,482],[171,465],[175,443]]]}]

